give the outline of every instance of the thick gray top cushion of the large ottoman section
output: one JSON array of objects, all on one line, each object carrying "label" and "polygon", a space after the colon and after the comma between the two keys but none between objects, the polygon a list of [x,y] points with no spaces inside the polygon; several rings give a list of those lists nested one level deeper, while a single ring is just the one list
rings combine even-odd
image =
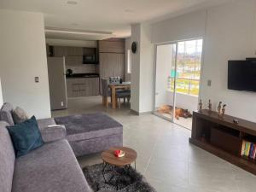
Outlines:
[{"label": "thick gray top cushion of the large ottoman section", "polygon": [[58,117],[55,122],[65,125],[69,142],[123,133],[123,125],[104,113]]}]

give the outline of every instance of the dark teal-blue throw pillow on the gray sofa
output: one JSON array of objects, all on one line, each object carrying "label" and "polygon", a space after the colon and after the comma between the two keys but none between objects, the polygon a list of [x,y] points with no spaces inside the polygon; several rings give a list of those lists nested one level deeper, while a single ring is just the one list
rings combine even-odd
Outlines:
[{"label": "dark teal-blue throw pillow on the gray sofa", "polygon": [[35,116],[20,124],[8,126],[8,131],[15,147],[16,157],[44,144]]}]

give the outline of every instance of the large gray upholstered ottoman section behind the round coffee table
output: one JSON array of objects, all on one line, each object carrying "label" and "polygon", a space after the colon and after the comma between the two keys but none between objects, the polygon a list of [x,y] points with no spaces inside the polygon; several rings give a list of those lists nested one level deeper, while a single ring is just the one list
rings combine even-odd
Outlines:
[{"label": "large gray upholstered ottoman section behind the round coffee table", "polygon": [[76,156],[123,146],[123,125],[104,113],[58,117],[55,122],[65,125],[67,141]]}]

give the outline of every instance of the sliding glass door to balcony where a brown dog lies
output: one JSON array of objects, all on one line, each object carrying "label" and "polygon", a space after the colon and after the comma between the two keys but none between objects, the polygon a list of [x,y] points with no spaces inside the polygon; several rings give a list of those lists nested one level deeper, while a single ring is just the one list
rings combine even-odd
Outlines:
[{"label": "sliding glass door to balcony where a brown dog lies", "polygon": [[156,46],[154,113],[191,129],[200,92],[202,39]]}]

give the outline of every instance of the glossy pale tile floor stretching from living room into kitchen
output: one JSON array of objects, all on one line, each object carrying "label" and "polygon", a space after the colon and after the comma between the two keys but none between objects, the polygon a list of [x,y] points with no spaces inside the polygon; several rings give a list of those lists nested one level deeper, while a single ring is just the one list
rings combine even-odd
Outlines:
[{"label": "glossy pale tile floor stretching from living room into kitchen", "polygon": [[[102,98],[70,99],[53,116],[102,111],[124,125],[124,146],[137,150],[137,170],[158,192],[255,192],[256,177],[189,144],[190,131],[152,114],[133,115],[129,106],[108,110]],[[79,158],[81,166],[102,162],[100,154]]]}]

